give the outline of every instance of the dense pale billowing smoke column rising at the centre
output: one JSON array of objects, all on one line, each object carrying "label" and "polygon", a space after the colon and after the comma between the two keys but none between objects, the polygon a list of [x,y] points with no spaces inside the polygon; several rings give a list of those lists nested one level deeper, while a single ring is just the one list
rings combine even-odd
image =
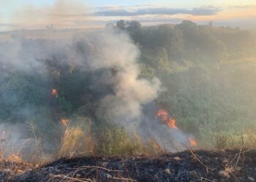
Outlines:
[{"label": "dense pale billowing smoke column rising at the centre", "polygon": [[157,78],[151,82],[138,79],[138,48],[127,34],[120,32],[105,31],[79,39],[83,39],[80,46],[85,51],[67,51],[69,61],[75,60],[76,64],[94,71],[107,68],[116,72],[100,79],[102,84],[112,87],[113,93],[101,100],[97,115],[110,116],[110,121],[125,126],[140,122],[142,106],[157,98],[160,82]]}]

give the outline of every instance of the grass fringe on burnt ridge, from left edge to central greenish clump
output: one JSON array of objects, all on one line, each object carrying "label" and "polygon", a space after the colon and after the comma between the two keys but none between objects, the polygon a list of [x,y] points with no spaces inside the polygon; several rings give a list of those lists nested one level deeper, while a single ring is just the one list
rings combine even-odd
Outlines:
[{"label": "grass fringe on burnt ridge, from left edge to central greenish clump", "polygon": [[[154,156],[164,154],[165,149],[154,140],[148,138],[143,141],[140,135],[134,130],[132,133],[127,132],[124,127],[116,126],[105,127],[92,132],[90,119],[82,121],[72,121],[67,125],[59,124],[60,130],[63,130],[59,146],[52,154],[44,151],[44,145],[41,138],[37,136],[36,127],[30,124],[30,138],[23,141],[18,150],[12,149],[11,152],[4,152],[4,147],[0,146],[2,154],[1,159],[8,159],[14,162],[29,162],[32,165],[40,165],[45,162],[54,161],[61,158],[83,157],[83,156],[137,156],[147,155]],[[6,143],[6,144],[4,144]],[[10,148],[10,142],[3,141],[5,147]],[[26,151],[29,146],[29,151]],[[23,149],[24,148],[24,149]],[[28,152],[28,154],[25,154]]]}]

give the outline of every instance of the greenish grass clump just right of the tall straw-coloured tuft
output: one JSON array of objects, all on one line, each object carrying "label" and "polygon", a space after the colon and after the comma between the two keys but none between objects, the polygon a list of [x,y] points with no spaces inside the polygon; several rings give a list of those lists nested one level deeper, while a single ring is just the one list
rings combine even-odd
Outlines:
[{"label": "greenish grass clump just right of the tall straw-coloured tuft", "polygon": [[143,141],[134,130],[129,134],[124,128],[104,128],[97,136],[95,154],[104,156],[156,155],[165,152],[154,139]]}]

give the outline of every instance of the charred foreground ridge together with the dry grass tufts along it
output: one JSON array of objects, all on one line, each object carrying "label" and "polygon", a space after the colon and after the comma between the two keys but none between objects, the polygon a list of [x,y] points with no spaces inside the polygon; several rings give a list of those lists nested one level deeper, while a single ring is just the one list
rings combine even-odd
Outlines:
[{"label": "charred foreground ridge together with the dry grass tufts along it", "polygon": [[[52,157],[39,156],[39,138],[35,145],[32,163],[17,153],[2,155],[0,172],[4,179],[13,181],[243,181],[255,178],[255,150],[248,136],[233,150],[192,150],[170,154],[154,138],[143,141],[138,133],[110,126],[92,132],[90,120],[67,125],[64,128],[59,150]],[[31,125],[32,128],[33,125]],[[190,145],[195,141],[189,138]],[[2,141],[4,143],[6,141]],[[253,152],[252,152],[253,151]],[[246,157],[247,153],[249,157]],[[99,157],[104,156],[104,157]],[[34,158],[38,157],[37,160]],[[57,161],[56,161],[57,160]],[[52,163],[49,163],[53,161]],[[56,161],[56,162],[54,162]],[[9,162],[9,163],[8,163]],[[48,165],[38,165],[48,162]],[[15,167],[12,167],[12,165]],[[246,165],[247,164],[247,165]],[[248,165],[249,164],[249,165]],[[39,167],[40,166],[40,167]],[[8,168],[9,167],[9,168]],[[36,168],[34,168],[36,167]],[[39,168],[38,168],[39,167]],[[252,168],[253,167],[253,168]],[[256,166],[255,166],[256,167]],[[252,170],[250,170],[252,168]],[[6,172],[10,169],[10,173]],[[31,169],[34,169],[31,171]],[[170,171],[170,173],[169,173]],[[142,175],[143,174],[143,175]]]}]

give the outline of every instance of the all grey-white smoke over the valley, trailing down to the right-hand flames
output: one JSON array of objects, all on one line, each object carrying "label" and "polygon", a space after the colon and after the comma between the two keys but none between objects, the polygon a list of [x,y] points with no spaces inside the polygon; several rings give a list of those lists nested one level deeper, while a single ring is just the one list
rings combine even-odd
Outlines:
[{"label": "all grey-white smoke over the valley, trailing down to the right-hand flames", "polygon": [[[15,73],[26,73],[33,76],[35,80],[39,77],[43,83],[36,91],[30,87],[23,88],[26,85],[18,85],[18,89],[15,88],[13,92],[0,91],[1,99],[4,100],[2,102],[13,109],[10,111],[12,116],[5,122],[20,123],[12,124],[12,128],[20,128],[20,125],[25,128],[29,127],[29,123],[36,122],[40,130],[38,138],[57,138],[47,143],[45,150],[50,151],[53,150],[53,146],[58,146],[58,138],[61,138],[63,131],[57,128],[56,122],[58,123],[63,116],[67,116],[63,111],[59,111],[56,98],[49,98],[48,94],[53,87],[58,86],[59,75],[66,74],[59,73],[53,68],[65,66],[71,66],[74,71],[80,71],[80,73],[91,73],[90,82],[80,82],[79,87],[76,88],[88,87],[91,90],[91,101],[82,102],[82,98],[87,97],[85,90],[84,96],[79,98],[83,105],[69,114],[69,121],[75,120],[76,116],[83,116],[91,117],[94,122],[100,121],[125,127],[129,132],[136,128],[145,141],[153,137],[169,151],[176,151],[175,147],[178,143],[188,143],[184,132],[170,129],[156,118],[158,107],[154,100],[164,89],[157,78],[151,80],[140,78],[138,62],[140,51],[124,31],[106,29],[84,32],[76,34],[71,39],[19,38],[4,42],[0,46],[2,47],[0,50],[1,82],[11,79]],[[57,79],[54,78],[55,74]],[[54,81],[55,79],[57,81]],[[23,82],[22,84],[26,84],[26,81]],[[85,84],[89,85],[85,86]],[[20,94],[20,92],[26,92],[23,90],[29,90],[28,92],[31,90],[31,93],[28,93],[32,95],[31,97],[37,93],[43,95],[42,103],[28,102],[20,105],[23,97],[29,98],[27,95]],[[89,108],[92,108],[91,112],[88,111]],[[56,113],[51,116],[50,112]],[[4,127],[2,128],[5,130]],[[7,131],[12,133],[13,140],[18,143],[17,146],[26,141],[26,138],[33,138],[33,135],[28,134],[28,130],[19,131]],[[34,142],[32,139],[31,141]],[[24,149],[31,149],[31,147],[24,146]],[[184,147],[181,146],[181,149]]]}]

